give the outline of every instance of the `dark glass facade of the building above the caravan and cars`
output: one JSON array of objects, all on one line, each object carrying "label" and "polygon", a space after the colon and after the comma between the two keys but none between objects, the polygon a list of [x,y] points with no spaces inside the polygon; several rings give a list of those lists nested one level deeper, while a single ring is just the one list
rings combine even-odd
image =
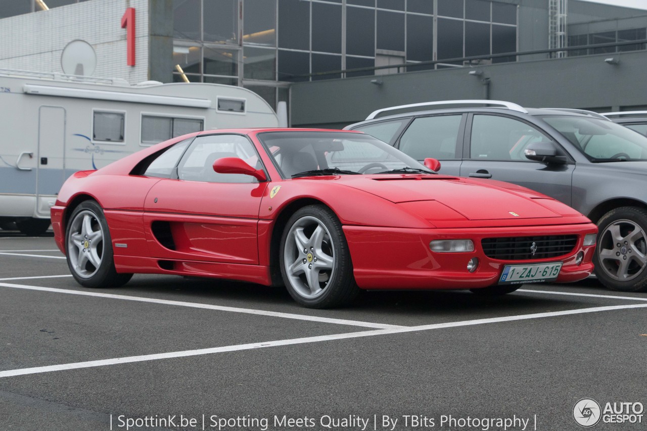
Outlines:
[{"label": "dark glass facade of the building above the caravan and cars", "polygon": [[242,85],[276,107],[289,82],[515,52],[517,9],[490,0],[174,0],[173,77]]}]

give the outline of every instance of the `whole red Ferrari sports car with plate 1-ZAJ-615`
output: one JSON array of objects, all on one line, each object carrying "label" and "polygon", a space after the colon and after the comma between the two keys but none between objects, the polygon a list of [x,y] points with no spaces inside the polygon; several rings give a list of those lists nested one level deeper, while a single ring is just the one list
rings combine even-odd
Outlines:
[{"label": "whole red Ferrari sports car with plate 1-ZAJ-615", "polygon": [[75,173],[52,227],[85,287],[224,278],[284,284],[306,307],[359,289],[505,294],[591,274],[597,228],[582,214],[438,167],[358,132],[202,131]]}]

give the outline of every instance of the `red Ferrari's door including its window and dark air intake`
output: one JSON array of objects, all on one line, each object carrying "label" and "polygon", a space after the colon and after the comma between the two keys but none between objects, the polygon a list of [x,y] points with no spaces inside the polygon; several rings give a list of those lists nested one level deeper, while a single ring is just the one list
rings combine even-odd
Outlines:
[{"label": "red Ferrari's door including its window and dark air intake", "polygon": [[144,225],[152,257],[258,265],[258,213],[267,182],[216,173],[214,161],[223,157],[260,163],[247,137],[203,135],[186,149],[176,175],[151,188]]}]

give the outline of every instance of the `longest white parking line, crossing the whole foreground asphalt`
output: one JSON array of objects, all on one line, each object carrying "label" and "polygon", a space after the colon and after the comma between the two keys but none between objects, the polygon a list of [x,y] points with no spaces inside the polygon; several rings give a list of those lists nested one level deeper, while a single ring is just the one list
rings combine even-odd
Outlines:
[{"label": "longest white parking line, crossing the whole foreground asphalt", "polygon": [[444,324],[399,327],[399,328],[393,328],[393,329],[377,329],[373,331],[360,331],[360,332],[351,332],[351,333],[344,333],[344,334],[320,335],[318,337],[292,338],[290,340],[275,340],[275,341],[250,343],[250,344],[236,344],[234,346],[223,346],[219,348],[174,351],[169,353],[156,353],[153,355],[140,355],[140,356],[130,356],[130,357],[124,357],[124,358],[89,360],[87,362],[73,362],[71,364],[58,364],[58,365],[50,365],[50,366],[43,366],[43,367],[21,368],[18,370],[0,371],[0,377],[12,377],[17,375],[25,375],[25,374],[47,373],[49,371],[75,370],[78,368],[91,368],[91,367],[100,367],[100,366],[106,366],[106,365],[126,364],[129,362],[144,362],[148,360],[180,358],[180,357],[197,356],[197,355],[210,355],[212,353],[223,353],[227,351],[240,351],[240,350],[260,349],[260,348],[269,348],[269,347],[277,347],[277,346],[290,346],[292,344],[305,344],[305,343],[314,343],[314,342],[320,342],[320,341],[343,340],[346,338],[372,337],[374,335],[387,335],[387,334],[397,334],[397,333],[406,333],[406,332],[415,332],[415,331],[429,331],[430,329],[443,329],[448,327],[459,327],[459,326],[474,326],[474,325],[483,325],[483,324],[498,323],[498,322],[513,322],[515,320],[528,320],[528,319],[545,318],[545,317],[580,315],[584,313],[597,313],[598,311],[613,311],[613,310],[644,308],[644,307],[647,307],[647,304],[611,305],[608,307],[593,307],[593,308],[585,308],[585,309],[578,309],[578,310],[553,311],[549,313],[535,313],[532,315],[494,317],[494,318],[487,318],[487,319],[464,320],[463,322],[448,322]]}]

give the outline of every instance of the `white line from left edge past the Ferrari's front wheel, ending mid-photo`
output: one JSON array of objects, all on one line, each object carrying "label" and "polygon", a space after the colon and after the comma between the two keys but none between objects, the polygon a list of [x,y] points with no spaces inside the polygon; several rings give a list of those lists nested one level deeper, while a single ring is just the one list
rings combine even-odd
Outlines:
[{"label": "white line from left edge past the Ferrari's front wheel, ending mid-photo", "polygon": [[311,322],[322,322],[322,323],[348,325],[348,326],[374,327],[377,329],[393,329],[393,328],[405,327],[405,326],[398,326],[398,325],[378,324],[378,323],[372,323],[372,322],[360,322],[358,320],[345,320],[345,319],[334,319],[329,317],[296,315],[292,313],[280,313],[278,311],[265,311],[265,310],[256,310],[256,309],[238,308],[238,307],[225,307],[223,305],[201,304],[199,302],[170,301],[170,300],[161,300],[161,299],[155,299],[155,298],[144,298],[142,296],[126,296],[126,295],[115,295],[110,293],[71,291],[68,289],[55,289],[54,287],[27,286],[22,284],[10,284],[10,283],[0,283],[0,287],[12,287],[14,289],[27,289],[32,291],[43,291],[43,292],[53,292],[53,293],[67,293],[67,294],[82,295],[82,296],[94,296],[96,298],[111,298],[111,299],[127,300],[127,301],[149,302],[152,304],[179,305],[181,307],[203,308],[203,309],[218,310],[218,311],[232,311],[234,313],[247,313],[250,315],[282,317],[282,318],[296,319],[296,320],[309,320]]}]

